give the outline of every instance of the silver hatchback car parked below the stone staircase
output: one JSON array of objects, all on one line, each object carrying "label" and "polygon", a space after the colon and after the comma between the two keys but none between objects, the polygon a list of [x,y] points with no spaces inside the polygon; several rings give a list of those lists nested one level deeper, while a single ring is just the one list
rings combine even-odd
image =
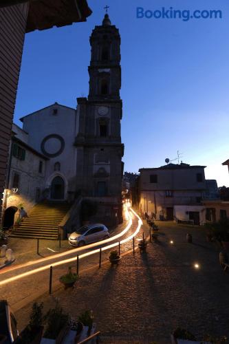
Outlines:
[{"label": "silver hatchback car parked below the stone staircase", "polygon": [[107,239],[109,236],[109,231],[104,224],[89,224],[71,233],[68,241],[70,245],[79,247]]}]

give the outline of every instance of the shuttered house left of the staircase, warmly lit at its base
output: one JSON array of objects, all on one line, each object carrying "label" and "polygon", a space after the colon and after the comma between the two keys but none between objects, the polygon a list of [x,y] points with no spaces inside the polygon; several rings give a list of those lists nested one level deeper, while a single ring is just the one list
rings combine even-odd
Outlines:
[{"label": "shuttered house left of the staircase, warmly lit at its base", "polygon": [[[48,158],[28,145],[28,133],[12,126],[10,173],[4,199],[3,226],[10,228],[19,217],[19,208],[29,210],[39,202],[45,190],[45,167]],[[12,190],[16,190],[15,194]]]}]

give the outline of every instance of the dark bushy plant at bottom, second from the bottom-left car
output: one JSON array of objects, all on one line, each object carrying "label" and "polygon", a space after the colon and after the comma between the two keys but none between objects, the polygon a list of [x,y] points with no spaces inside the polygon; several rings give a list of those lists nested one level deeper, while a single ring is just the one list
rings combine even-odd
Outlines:
[{"label": "dark bushy plant at bottom, second from the bottom-left car", "polygon": [[44,319],[47,321],[44,338],[55,340],[56,344],[60,344],[69,330],[69,316],[64,314],[63,308],[56,302],[56,307],[50,309]]}]

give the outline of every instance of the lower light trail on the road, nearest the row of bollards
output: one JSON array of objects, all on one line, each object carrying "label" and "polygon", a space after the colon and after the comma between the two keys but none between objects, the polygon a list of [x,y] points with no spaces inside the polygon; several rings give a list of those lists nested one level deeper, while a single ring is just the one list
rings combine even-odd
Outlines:
[{"label": "lower light trail on the road, nearest the row of bollards", "polygon": [[[132,234],[132,235],[129,235],[129,237],[127,237],[126,239],[123,239],[122,241],[117,241],[116,243],[113,243],[113,244],[110,244],[108,246],[104,246],[102,247],[102,251],[105,251],[105,250],[109,250],[110,248],[113,248],[113,247],[116,247],[118,246],[119,242],[120,244],[124,244],[125,242],[133,239],[133,237],[135,237],[135,235],[137,235],[140,231],[140,228],[142,226],[142,219],[140,218],[140,216],[135,213],[135,211],[133,211],[132,208],[130,208],[131,212],[133,213],[133,215],[135,215],[137,218],[138,218],[138,226],[135,230],[135,232]],[[129,210],[127,210],[129,211]],[[130,213],[129,213],[130,215]],[[127,227],[131,227],[132,226],[132,219],[129,220],[129,224]],[[108,240],[108,239],[107,239]],[[105,241],[105,240],[104,240]],[[103,242],[104,242],[103,241]],[[85,252],[83,253],[82,255],[79,255],[79,259],[83,259],[85,257],[89,257],[91,255],[95,255],[96,253],[100,252],[100,248],[97,248],[96,250],[93,250],[91,252]],[[61,265],[64,265],[64,264],[67,264],[67,263],[71,263],[72,261],[76,261],[76,257],[73,257],[73,258],[69,258],[69,259],[64,259],[62,261],[56,261],[55,263],[52,264],[52,267],[54,268],[55,266],[61,266]],[[3,281],[0,281],[0,286],[3,286],[4,284],[7,284],[7,283],[12,283],[13,281],[17,281],[19,279],[22,279],[24,277],[28,277],[30,275],[34,275],[36,273],[39,273],[39,272],[42,272],[42,271],[45,271],[45,270],[48,270],[50,269],[50,264],[48,265],[45,265],[45,266],[41,266],[40,268],[36,268],[34,270],[31,270],[31,271],[28,271],[28,272],[23,272],[21,273],[20,275],[17,275],[17,276],[14,276],[14,277],[10,277],[8,279],[5,279]]]}]

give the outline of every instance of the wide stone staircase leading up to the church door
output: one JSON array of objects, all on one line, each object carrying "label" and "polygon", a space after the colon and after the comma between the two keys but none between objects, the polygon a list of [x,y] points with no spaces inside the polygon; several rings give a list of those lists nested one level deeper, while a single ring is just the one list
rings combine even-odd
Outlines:
[{"label": "wide stone staircase leading up to the church door", "polygon": [[24,217],[21,225],[12,230],[10,237],[58,239],[58,224],[69,211],[67,202],[41,202]]}]

